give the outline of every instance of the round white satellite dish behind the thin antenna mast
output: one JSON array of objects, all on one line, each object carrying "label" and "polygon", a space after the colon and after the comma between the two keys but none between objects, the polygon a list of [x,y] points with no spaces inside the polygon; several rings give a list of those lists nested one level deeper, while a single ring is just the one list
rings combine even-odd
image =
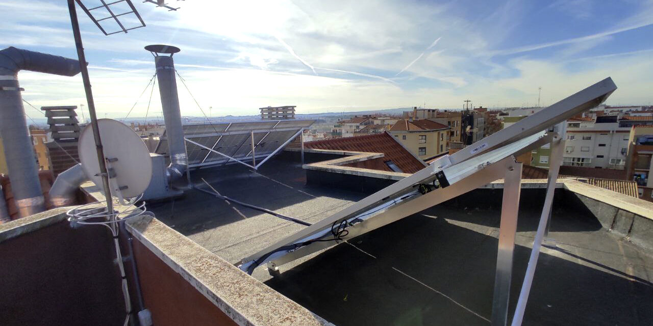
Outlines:
[{"label": "round white satellite dish behind the thin antenna mast", "polygon": [[[112,195],[120,200],[139,196],[148,188],[152,177],[152,161],[148,147],[134,130],[119,121],[99,119],[97,125],[100,129],[106,168],[109,170]],[[82,130],[78,152],[86,176],[103,189],[95,138],[90,124]]]}]

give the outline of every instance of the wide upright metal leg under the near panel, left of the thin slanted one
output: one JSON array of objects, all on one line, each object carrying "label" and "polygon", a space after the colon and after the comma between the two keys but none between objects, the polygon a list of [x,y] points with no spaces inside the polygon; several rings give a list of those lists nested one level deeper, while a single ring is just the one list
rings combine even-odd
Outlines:
[{"label": "wide upright metal leg under the near panel, left of the thin slanted one", "polygon": [[503,183],[501,224],[496,257],[496,275],[494,276],[494,297],[492,299],[492,326],[505,326],[508,318],[521,180],[522,164],[516,163],[508,166],[505,171],[505,182]]}]

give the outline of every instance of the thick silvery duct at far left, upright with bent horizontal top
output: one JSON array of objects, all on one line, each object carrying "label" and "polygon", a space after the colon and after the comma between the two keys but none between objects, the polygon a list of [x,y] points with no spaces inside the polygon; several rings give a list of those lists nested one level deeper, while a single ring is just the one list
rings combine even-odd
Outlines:
[{"label": "thick silvery duct at far left, upright with bent horizontal top", "polygon": [[74,76],[80,72],[77,60],[14,47],[0,50],[0,135],[12,192],[21,217],[45,210],[34,147],[27,130],[18,71]]}]

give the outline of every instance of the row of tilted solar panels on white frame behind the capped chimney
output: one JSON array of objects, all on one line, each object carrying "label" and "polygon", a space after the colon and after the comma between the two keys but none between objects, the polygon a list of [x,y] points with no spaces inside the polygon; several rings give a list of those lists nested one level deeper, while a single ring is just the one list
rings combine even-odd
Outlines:
[{"label": "row of tilted solar panels on white frame behind the capped chimney", "polygon": [[[283,143],[290,140],[300,130],[313,125],[313,120],[281,120],[247,123],[212,123],[199,125],[183,125],[184,138],[195,141],[203,146],[214,149],[241,161],[251,161],[251,136],[254,136],[254,153],[257,162],[272,154]],[[168,156],[168,141],[166,133],[155,153]],[[189,167],[226,164],[229,158],[209,151],[189,141],[186,141],[186,153]]]}]

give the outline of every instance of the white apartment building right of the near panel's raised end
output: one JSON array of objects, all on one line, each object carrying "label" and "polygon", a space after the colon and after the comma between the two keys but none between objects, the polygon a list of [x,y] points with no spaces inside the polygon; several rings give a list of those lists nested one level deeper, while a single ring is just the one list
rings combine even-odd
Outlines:
[{"label": "white apartment building right of the near panel's raised end", "polygon": [[569,119],[562,164],[623,170],[630,130],[616,115]]}]

